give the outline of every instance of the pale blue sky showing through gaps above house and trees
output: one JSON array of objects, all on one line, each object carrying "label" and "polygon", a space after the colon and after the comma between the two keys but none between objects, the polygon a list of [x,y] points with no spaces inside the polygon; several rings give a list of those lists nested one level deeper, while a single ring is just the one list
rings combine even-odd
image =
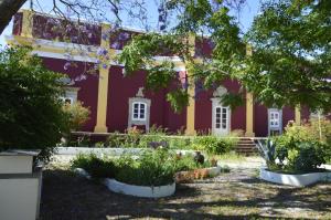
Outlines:
[{"label": "pale blue sky showing through gaps above house and trees", "polygon": [[[148,1],[153,1],[153,0],[148,0]],[[41,2],[43,2],[43,6],[41,7],[44,9],[44,11],[46,11],[51,6],[50,1],[49,2],[41,1]],[[22,7],[22,9],[29,9],[29,7],[30,7],[30,1],[28,0]],[[258,13],[258,10],[259,10],[259,0],[247,0],[243,11],[239,14],[239,25],[243,32],[246,32],[249,29],[254,20],[254,17]],[[130,21],[126,23],[126,25],[129,25],[130,28],[137,28],[130,24],[131,24]],[[10,24],[4,29],[4,31],[0,35],[1,48],[6,45],[4,35],[10,35],[11,30],[12,30],[12,22],[10,22]]]}]

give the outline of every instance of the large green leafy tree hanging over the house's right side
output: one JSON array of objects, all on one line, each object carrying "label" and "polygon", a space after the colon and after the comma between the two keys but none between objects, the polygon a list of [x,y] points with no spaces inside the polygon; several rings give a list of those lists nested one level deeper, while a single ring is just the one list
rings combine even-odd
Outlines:
[{"label": "large green leafy tree hanging over the house's right side", "polygon": [[[191,85],[194,83],[199,87],[200,84],[207,90],[229,77],[237,80],[243,88],[254,94],[256,102],[266,106],[302,105],[331,111],[330,1],[267,1],[244,38],[226,6],[207,0],[194,3],[170,1],[167,4],[168,10],[178,7],[183,9],[182,15],[171,32],[137,36],[125,48],[119,60],[125,63],[126,72],[149,66],[151,55],[167,44],[167,49],[188,63]],[[183,38],[188,39],[192,33],[207,33],[213,43],[211,54],[202,54],[199,60],[190,54],[190,45]],[[247,55],[245,48],[249,44],[253,53]],[[164,62],[152,67],[148,80],[167,85],[164,82],[171,80],[163,77],[171,72],[167,65]],[[159,74],[153,74],[156,71]],[[243,91],[228,93],[222,99],[236,106],[242,103]],[[177,96],[169,94],[174,106],[180,104],[175,101],[188,99],[184,88],[178,87],[174,94]]]}]

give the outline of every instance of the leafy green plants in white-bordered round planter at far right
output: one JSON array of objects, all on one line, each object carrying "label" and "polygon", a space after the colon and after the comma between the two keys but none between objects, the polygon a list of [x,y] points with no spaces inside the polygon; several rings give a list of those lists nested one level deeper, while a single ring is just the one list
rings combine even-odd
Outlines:
[{"label": "leafy green plants in white-bordered round planter at far right", "polygon": [[298,187],[330,180],[331,170],[321,168],[330,156],[330,146],[313,134],[311,124],[291,125],[284,135],[260,143],[267,164],[260,170],[260,178]]}]

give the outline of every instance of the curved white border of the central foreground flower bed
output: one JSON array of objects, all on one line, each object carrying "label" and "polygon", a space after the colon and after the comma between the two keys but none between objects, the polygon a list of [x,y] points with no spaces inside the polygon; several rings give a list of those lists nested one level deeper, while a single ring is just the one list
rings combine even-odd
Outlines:
[{"label": "curved white border of the central foreground flower bed", "polygon": [[[75,168],[74,171],[79,176],[90,179],[90,175],[82,168]],[[102,180],[102,184],[104,184],[110,191],[134,197],[162,198],[172,196],[175,191],[175,182],[166,186],[146,187],[128,185],[117,181],[116,179],[105,178]]]}]

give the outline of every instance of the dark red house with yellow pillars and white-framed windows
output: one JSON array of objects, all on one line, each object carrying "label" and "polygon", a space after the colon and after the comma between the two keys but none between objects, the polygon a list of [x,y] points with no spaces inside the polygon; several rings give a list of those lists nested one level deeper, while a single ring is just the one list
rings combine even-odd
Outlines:
[{"label": "dark red house with yellow pillars and white-framed windows", "polygon": [[[94,133],[125,132],[134,125],[167,127],[175,133],[185,129],[186,134],[212,132],[227,135],[232,130],[244,130],[246,136],[268,136],[279,134],[289,121],[300,123],[309,118],[307,108],[284,107],[267,108],[254,102],[246,93],[245,105],[231,109],[220,103],[220,96],[227,92],[238,92],[241,85],[233,80],[225,80],[222,86],[213,91],[203,91],[199,98],[190,98],[190,105],[180,114],[174,113],[166,101],[167,90],[157,93],[145,92],[143,71],[130,77],[124,77],[122,65],[107,60],[106,65],[93,55],[102,49],[106,53],[120,53],[132,34],[143,34],[134,29],[121,29],[117,35],[107,35],[110,24],[84,24],[77,32],[71,23],[68,30],[55,30],[58,18],[22,10],[14,17],[12,35],[7,36],[10,44],[32,45],[33,53],[42,57],[46,67],[66,74],[68,77],[65,102],[81,101],[90,108],[90,119],[83,130]],[[61,22],[61,21],[60,21]],[[70,36],[63,33],[67,31]],[[106,38],[105,38],[106,35]],[[125,35],[126,38],[120,38]],[[83,40],[85,39],[85,40]],[[211,45],[207,40],[190,39],[194,44],[193,53],[207,53]],[[166,54],[156,60],[170,59],[179,76],[190,74],[178,56]],[[195,85],[195,88],[199,85]],[[189,88],[194,95],[194,87]]]}]

